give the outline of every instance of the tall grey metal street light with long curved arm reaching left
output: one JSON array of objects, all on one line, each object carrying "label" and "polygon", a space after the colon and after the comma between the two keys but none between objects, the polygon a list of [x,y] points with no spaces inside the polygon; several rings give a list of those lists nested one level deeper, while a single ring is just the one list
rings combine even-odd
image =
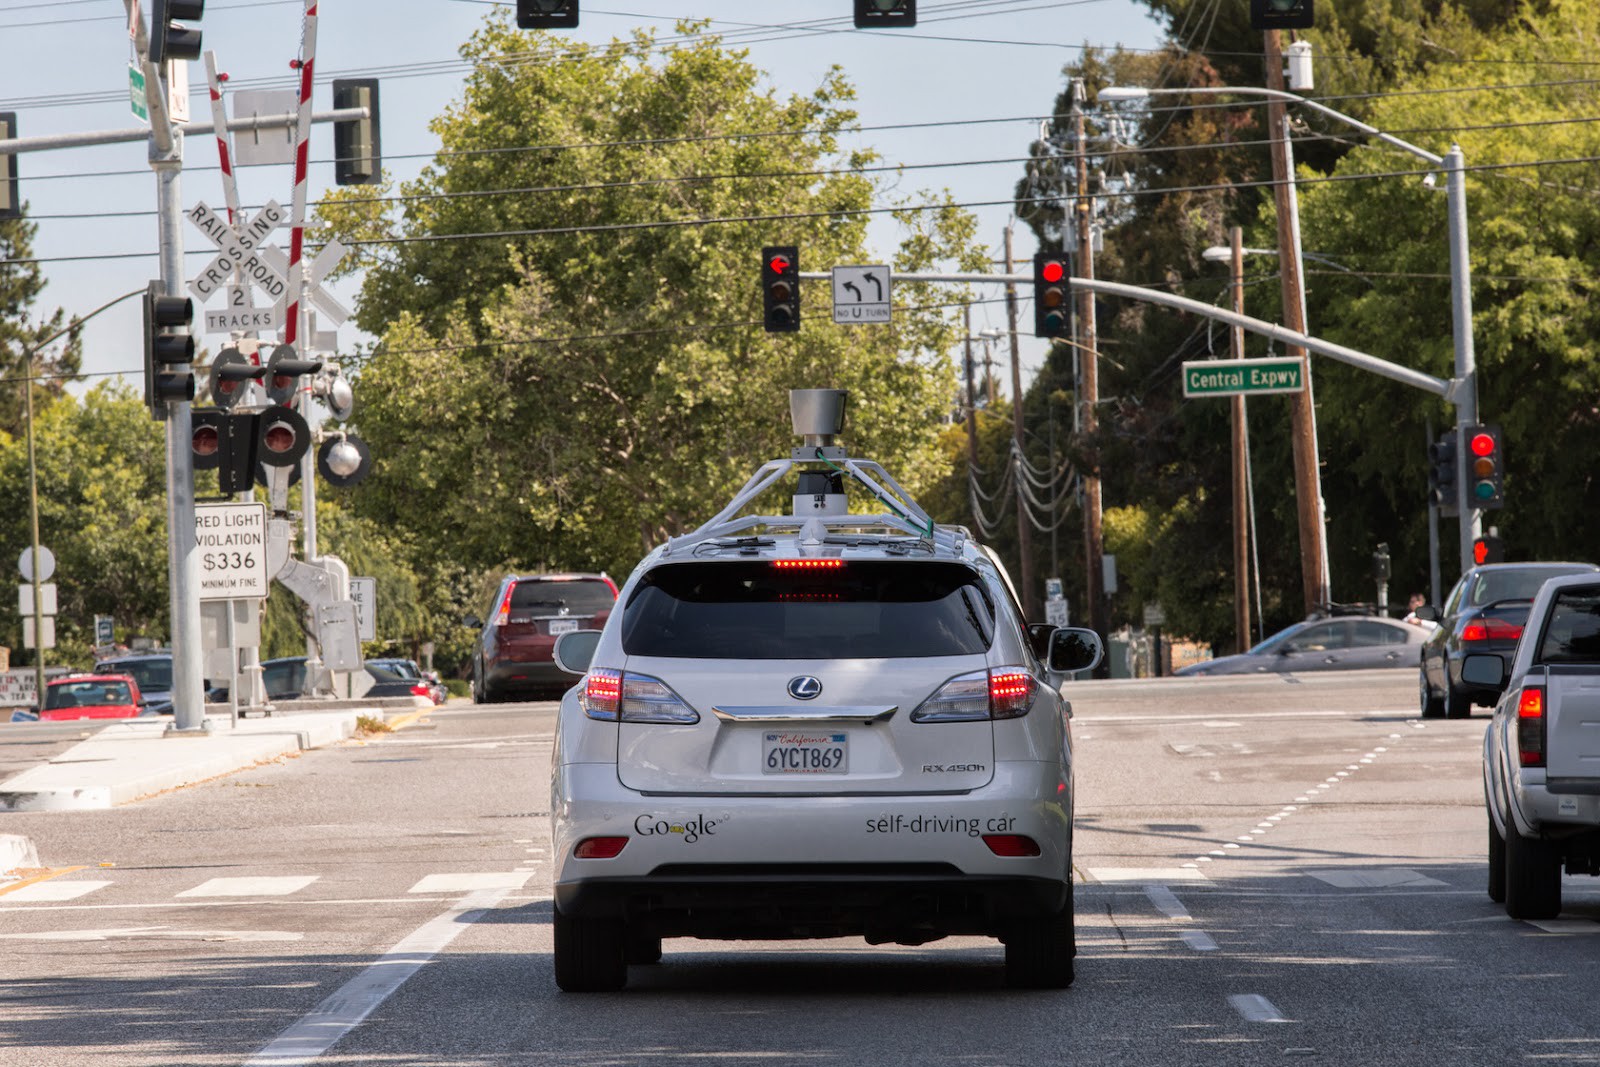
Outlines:
[{"label": "tall grey metal street light with long curved arm reaching left", "polygon": [[[1150,88],[1134,88],[1134,86],[1106,86],[1099,91],[1099,99],[1102,101],[1139,101],[1149,99],[1157,94],[1194,94],[1194,96],[1259,96],[1269,101],[1282,101],[1286,104],[1298,104],[1299,107],[1307,107],[1320,115],[1336,118],[1347,126],[1354,126],[1365,134],[1374,136],[1384,144],[1400,149],[1402,152],[1410,152],[1411,155],[1434,165],[1445,171],[1445,192],[1450,200],[1450,304],[1451,304],[1451,326],[1454,334],[1456,349],[1456,366],[1454,378],[1451,381],[1451,394],[1446,397],[1456,405],[1456,427],[1466,432],[1466,427],[1478,421],[1478,387],[1477,387],[1477,357],[1472,347],[1472,264],[1467,259],[1467,179],[1466,179],[1466,157],[1461,152],[1459,144],[1451,144],[1450,152],[1445,155],[1437,155],[1427,149],[1419,149],[1418,146],[1402,141],[1400,138],[1384,133],[1376,126],[1370,126],[1360,118],[1352,118],[1344,112],[1334,110],[1317,101],[1306,99],[1294,93],[1286,93],[1283,90],[1270,90],[1261,86],[1198,86],[1198,88],[1173,88],[1173,90],[1150,90]],[[1293,182],[1294,168],[1290,166],[1290,181]],[[1291,186],[1293,189],[1293,186]],[[1296,206],[1298,211],[1298,206]],[[1299,235],[1299,219],[1294,219],[1294,234]],[[1294,246],[1296,258],[1301,256],[1299,242]],[[1296,262],[1296,272],[1299,264]],[[1304,298],[1302,298],[1304,299]],[[1456,506],[1461,510],[1461,569],[1472,566],[1472,542],[1483,531],[1483,515],[1474,506],[1475,502],[1467,496],[1466,478],[1458,478],[1456,486]]]}]

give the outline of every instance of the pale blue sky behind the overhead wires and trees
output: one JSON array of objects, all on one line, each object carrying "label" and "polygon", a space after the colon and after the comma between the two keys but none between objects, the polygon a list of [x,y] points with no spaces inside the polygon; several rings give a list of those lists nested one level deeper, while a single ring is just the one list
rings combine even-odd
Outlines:
[{"label": "pale blue sky behind the overhead wires and trees", "polygon": [[[147,18],[149,0],[144,6]],[[314,107],[333,107],[336,77],[379,77],[384,170],[395,179],[416,176],[438,147],[429,120],[461,94],[464,66],[458,50],[494,6],[490,0],[320,0]],[[206,3],[198,22],[203,46],[216,53],[218,69],[229,75],[229,91],[298,85],[290,62],[299,54],[302,16],[304,0]],[[766,72],[779,93],[810,94],[827,69],[838,64],[858,90],[862,126],[971,123],[866,130],[853,134],[854,142],[842,144],[872,146],[886,163],[965,163],[909,171],[902,186],[949,189],[960,203],[1002,202],[974,208],[979,240],[995,256],[1010,222],[1010,208],[1003,205],[1021,165],[973,162],[1026,155],[1038,118],[1064,85],[1062,66],[1075,61],[1083,45],[1154,48],[1160,40],[1160,26],[1133,0],[922,0],[918,26],[893,32],[856,30],[850,0],[582,0],[579,27],[552,32],[606,42],[653,26],[659,37],[670,37],[683,18],[710,19],[710,27],[726,34],[730,43],[747,48],[750,62]],[[0,0],[0,40],[6,43],[0,112],[18,114],[21,138],[141,125],[130,107],[133,50],[120,0]],[[211,117],[205,70],[203,62],[189,64],[195,122]],[[315,125],[312,202],[334,184],[331,158],[333,126]],[[19,157],[19,174],[22,200],[38,224],[34,254],[45,261],[48,283],[34,307],[37,317],[56,307],[86,315],[125,293],[142,291],[158,277],[157,186],[144,141],[29,152]],[[246,210],[267,200],[290,206],[291,165],[237,168],[237,174]],[[200,202],[218,211],[226,208],[213,134],[187,138],[181,200],[186,211]],[[878,261],[886,262],[894,230],[875,229],[870,237]],[[214,251],[187,221],[182,240],[184,269],[194,277],[208,262],[205,253]],[[286,229],[269,240],[286,250]],[[1032,254],[1032,232],[1016,224],[1016,261],[1027,262]],[[821,270],[832,264],[803,266]],[[331,296],[346,307],[354,307],[357,291],[357,280],[330,285]],[[818,314],[824,293],[822,283],[810,283],[805,293],[810,314]],[[978,296],[998,296],[998,286]],[[222,298],[205,307],[219,310]],[[195,310],[197,333],[200,310]],[[1003,326],[1003,304],[974,307],[974,333]],[[1027,336],[1026,309],[1022,331],[1024,378],[1029,378],[1043,358],[1045,344]],[[83,330],[86,378],[75,389],[115,374],[141,387],[141,333],[138,298],[90,322]],[[216,350],[226,339],[210,334],[198,342]],[[338,330],[338,339],[344,352],[371,341],[349,323]],[[997,346],[994,355],[1002,358],[1006,352]],[[1002,381],[1010,376],[1002,374]]]}]

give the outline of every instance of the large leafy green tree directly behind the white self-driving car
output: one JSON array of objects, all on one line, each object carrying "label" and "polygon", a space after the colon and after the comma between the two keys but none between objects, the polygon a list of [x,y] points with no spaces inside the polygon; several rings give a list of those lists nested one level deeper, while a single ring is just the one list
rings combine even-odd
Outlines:
[{"label": "large leafy green tree directly behind the white self-driving car", "polygon": [[[846,330],[806,282],[803,330],[760,330],[763,245],[797,243],[806,270],[870,262],[882,190],[874,157],[838,147],[850,86],[835,70],[778,99],[742,53],[680,29],[659,53],[646,35],[573,48],[490,18],[403,206],[352,187],[323,208],[328,232],[370,242],[357,318],[382,338],[357,371],[378,461],[354,506],[414,534],[419,573],[622,576],[789,454],[790,387],[850,389],[850,446],[912,491],[938,472],[944,293],[896,286],[893,326]],[[896,267],[976,269],[973,219],[926,200],[944,206],[896,205]]]}]

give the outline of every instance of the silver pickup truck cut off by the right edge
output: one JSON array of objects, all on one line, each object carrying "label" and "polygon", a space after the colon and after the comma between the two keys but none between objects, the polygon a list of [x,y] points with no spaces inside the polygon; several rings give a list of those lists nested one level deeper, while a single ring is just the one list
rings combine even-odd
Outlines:
[{"label": "silver pickup truck cut off by the right edge", "polygon": [[1483,736],[1490,899],[1554,918],[1563,870],[1600,875],[1600,576],[1547,581],[1509,670],[1475,654],[1462,677],[1501,691]]}]

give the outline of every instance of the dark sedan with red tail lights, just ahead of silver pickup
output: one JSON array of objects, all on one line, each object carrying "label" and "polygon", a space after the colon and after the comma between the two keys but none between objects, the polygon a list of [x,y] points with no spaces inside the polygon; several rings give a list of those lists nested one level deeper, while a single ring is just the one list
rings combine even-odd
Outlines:
[{"label": "dark sedan with red tail lights, just ahead of silver pickup", "polygon": [[1494,704],[1496,689],[1461,677],[1462,661],[1475,653],[1510,656],[1539,585],[1597,571],[1594,563],[1485,563],[1461,576],[1442,609],[1418,608],[1418,617],[1438,622],[1422,643],[1418,670],[1422,718],[1466,718],[1474,704]]}]

